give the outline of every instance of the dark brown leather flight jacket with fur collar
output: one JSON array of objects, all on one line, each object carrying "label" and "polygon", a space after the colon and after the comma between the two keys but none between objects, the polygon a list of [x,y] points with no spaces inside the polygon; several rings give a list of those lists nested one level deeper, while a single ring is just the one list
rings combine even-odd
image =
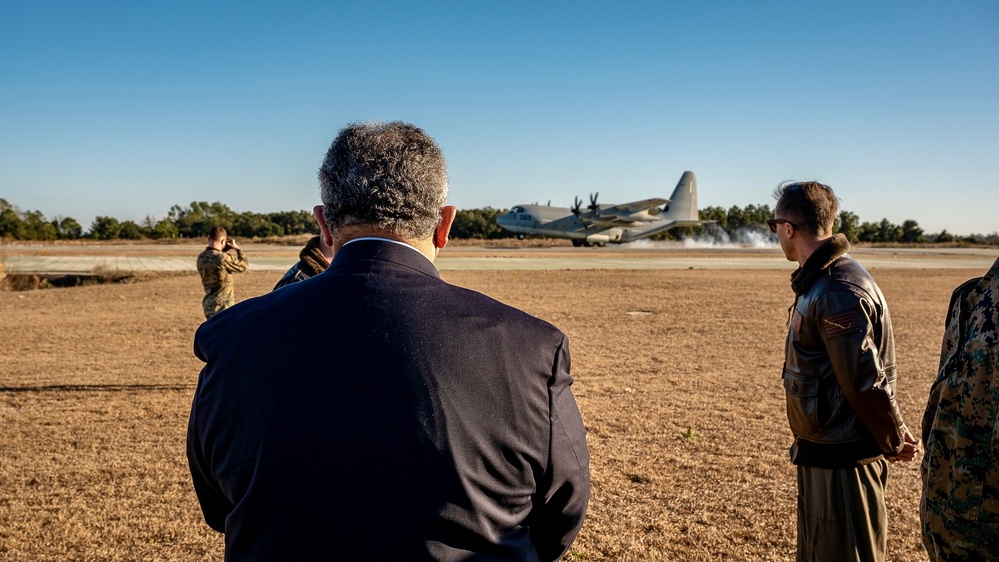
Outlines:
[{"label": "dark brown leather flight jacket with fur collar", "polygon": [[783,379],[795,464],[852,467],[902,449],[888,305],[849,247],[834,236],[791,277]]}]

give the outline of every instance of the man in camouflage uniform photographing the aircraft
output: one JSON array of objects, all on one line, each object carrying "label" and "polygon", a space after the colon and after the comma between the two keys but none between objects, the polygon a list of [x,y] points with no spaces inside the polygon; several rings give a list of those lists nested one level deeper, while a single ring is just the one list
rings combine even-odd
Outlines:
[{"label": "man in camouflage uniform photographing the aircraft", "polygon": [[[229,250],[236,250],[236,256],[233,257]],[[236,241],[226,238],[225,229],[212,227],[208,234],[208,247],[198,254],[198,273],[201,274],[201,284],[205,286],[201,307],[206,320],[236,304],[232,274],[246,271],[249,266]]]}]

